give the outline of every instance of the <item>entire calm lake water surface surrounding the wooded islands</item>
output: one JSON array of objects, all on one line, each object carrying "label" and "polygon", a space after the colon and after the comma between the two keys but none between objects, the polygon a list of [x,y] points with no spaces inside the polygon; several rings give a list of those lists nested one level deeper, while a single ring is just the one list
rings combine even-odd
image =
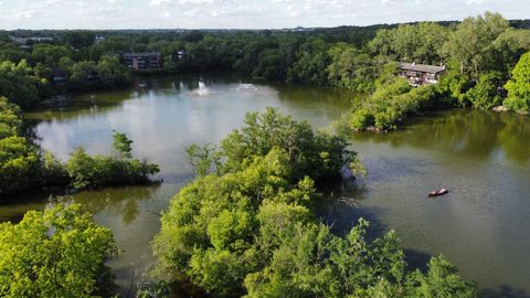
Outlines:
[{"label": "entire calm lake water surface surrounding the wooded islands", "polygon": [[[43,148],[61,159],[77,146],[112,150],[112,130],[134,141],[134,156],[161,167],[155,187],[82,192],[66,198],[35,193],[0,205],[1,221],[56,201],[82,203],[110,227],[124,254],[110,263],[125,291],[148,280],[149,247],[159,214],[192,178],[184,148],[216,143],[242,125],[245,113],[279,107],[315,128],[348,108],[353,95],[332,88],[271,85],[233,77],[163,78],[145,88],[85,94],[31,113]],[[370,174],[331,194],[322,220],[338,232],[359,216],[375,233],[398,231],[411,263],[444,254],[492,297],[530,295],[530,121],[512,115],[455,110],[418,118],[403,130],[352,138]],[[428,199],[431,189],[451,193]]]}]

